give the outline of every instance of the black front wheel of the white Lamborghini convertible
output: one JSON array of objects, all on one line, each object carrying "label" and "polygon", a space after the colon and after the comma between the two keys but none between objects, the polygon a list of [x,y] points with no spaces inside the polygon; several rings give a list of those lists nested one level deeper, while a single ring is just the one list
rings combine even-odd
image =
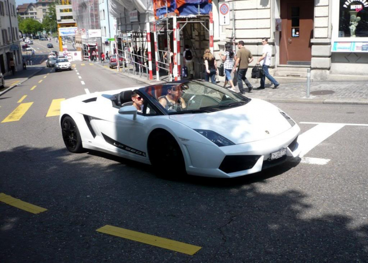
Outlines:
[{"label": "black front wheel of the white Lamborghini convertible", "polygon": [[175,138],[166,131],[150,135],[148,154],[155,173],[168,179],[186,175],[182,149]]}]

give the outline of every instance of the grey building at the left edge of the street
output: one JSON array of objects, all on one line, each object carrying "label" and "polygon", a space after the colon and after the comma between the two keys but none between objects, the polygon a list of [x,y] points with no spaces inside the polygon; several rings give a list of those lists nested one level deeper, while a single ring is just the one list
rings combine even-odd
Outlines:
[{"label": "grey building at the left edge of the street", "polygon": [[23,68],[15,0],[0,0],[0,29],[0,70],[8,75],[10,59],[14,60],[17,70]]}]

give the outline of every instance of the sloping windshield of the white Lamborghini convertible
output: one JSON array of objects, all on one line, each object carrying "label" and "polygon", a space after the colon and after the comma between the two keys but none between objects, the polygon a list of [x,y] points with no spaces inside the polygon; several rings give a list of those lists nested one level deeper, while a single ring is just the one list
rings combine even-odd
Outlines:
[{"label": "sloping windshield of the white Lamborghini convertible", "polygon": [[204,81],[181,81],[140,88],[169,115],[209,113],[247,104],[250,99]]}]

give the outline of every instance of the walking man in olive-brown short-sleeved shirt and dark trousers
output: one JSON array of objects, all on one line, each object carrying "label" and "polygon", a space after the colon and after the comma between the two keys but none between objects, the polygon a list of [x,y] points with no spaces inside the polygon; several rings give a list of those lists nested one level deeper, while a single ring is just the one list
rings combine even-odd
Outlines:
[{"label": "walking man in olive-brown short-sleeved shirt and dark trousers", "polygon": [[248,92],[251,92],[253,87],[245,77],[247,74],[248,65],[253,61],[252,53],[244,47],[244,41],[237,42],[237,58],[233,68],[233,72],[235,72],[237,66],[237,86],[239,88],[239,94],[244,94],[245,89],[243,88],[243,81],[245,85],[248,87]]}]

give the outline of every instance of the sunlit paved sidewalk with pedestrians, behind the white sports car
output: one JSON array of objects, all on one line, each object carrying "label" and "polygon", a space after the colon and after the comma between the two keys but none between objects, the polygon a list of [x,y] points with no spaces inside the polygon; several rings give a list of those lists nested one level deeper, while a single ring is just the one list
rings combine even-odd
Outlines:
[{"label": "sunlit paved sidewalk with pedestrians, behind the white sports car", "polygon": [[[96,63],[102,66],[100,63]],[[114,69],[117,73],[117,70]],[[144,73],[142,77],[133,74],[123,73],[122,69],[120,74],[139,80],[147,85],[154,85],[165,82],[163,80],[156,81],[156,75],[154,80],[147,80],[147,75]],[[163,77],[168,80],[168,77]],[[259,87],[259,80],[249,80],[253,85],[252,92],[248,93],[246,88],[245,96],[249,98],[263,99],[269,102],[292,102],[292,103],[315,103],[315,104],[350,104],[350,105],[368,105],[368,82],[311,82],[310,84],[310,97],[306,97],[307,83],[287,83],[280,84],[279,88],[270,88],[271,84],[267,84],[266,88],[257,89]],[[258,84],[257,84],[258,83]],[[218,83],[223,86],[224,82]],[[230,87],[230,84],[228,84]],[[236,91],[239,89],[236,87]]]}]

